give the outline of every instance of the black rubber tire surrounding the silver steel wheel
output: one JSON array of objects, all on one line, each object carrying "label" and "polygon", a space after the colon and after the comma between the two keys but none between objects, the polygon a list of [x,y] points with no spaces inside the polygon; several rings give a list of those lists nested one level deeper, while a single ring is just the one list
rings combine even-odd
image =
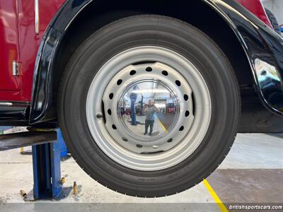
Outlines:
[{"label": "black rubber tire surrounding the silver steel wheel", "polygon": [[[169,49],[190,61],[207,85],[211,102],[207,130],[202,132],[204,136],[197,148],[177,164],[156,167],[156,170],[139,170],[117,163],[100,147],[101,143],[93,139],[96,131],[103,130],[89,125],[89,119],[96,117],[86,115],[89,90],[97,76],[103,74],[105,63],[121,52],[137,47]],[[112,74],[112,69],[108,74]],[[99,81],[98,90],[107,81],[105,76]],[[96,96],[100,95],[98,90]],[[141,197],[183,192],[208,177],[233,144],[241,102],[238,83],[228,59],[207,35],[180,20],[151,15],[117,20],[83,42],[64,72],[58,101],[59,126],[76,162],[100,184],[122,194]],[[100,102],[95,102],[94,107],[97,104]],[[200,110],[195,111],[195,117],[197,113],[202,114]],[[195,134],[199,133],[195,131]],[[107,142],[107,139],[102,141]]]}]

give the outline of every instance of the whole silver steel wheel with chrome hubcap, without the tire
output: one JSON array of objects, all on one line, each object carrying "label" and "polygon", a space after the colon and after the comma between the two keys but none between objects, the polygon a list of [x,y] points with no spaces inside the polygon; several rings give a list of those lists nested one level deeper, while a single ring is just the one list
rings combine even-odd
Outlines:
[{"label": "whole silver steel wheel with chrome hubcap, without the tire", "polygon": [[[86,102],[88,127],[102,151],[145,171],[189,157],[200,146],[211,113],[209,90],[195,66],[154,46],[112,57],[93,79]],[[149,134],[146,126],[152,126]]]}]

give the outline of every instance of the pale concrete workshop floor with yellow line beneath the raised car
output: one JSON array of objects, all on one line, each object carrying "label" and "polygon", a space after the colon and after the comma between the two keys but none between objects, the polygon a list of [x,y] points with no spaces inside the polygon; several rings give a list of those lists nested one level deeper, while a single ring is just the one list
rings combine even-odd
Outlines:
[{"label": "pale concrete workshop floor with yellow line beneath the raised car", "polygon": [[[19,192],[23,189],[32,196],[31,155],[21,155],[19,149],[0,152],[0,211],[219,211],[203,182],[173,196],[141,199],[103,187],[72,158],[63,161],[61,169],[67,179],[64,199],[25,202]],[[74,181],[80,187],[76,196],[69,189]],[[238,134],[226,160],[207,181],[226,207],[239,202],[283,203],[283,139]]]}]

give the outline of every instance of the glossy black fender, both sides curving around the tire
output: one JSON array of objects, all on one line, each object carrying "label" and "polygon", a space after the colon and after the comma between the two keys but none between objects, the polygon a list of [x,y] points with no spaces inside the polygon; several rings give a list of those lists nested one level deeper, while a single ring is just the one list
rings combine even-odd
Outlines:
[{"label": "glossy black fender, both sides curving around the tire", "polygon": [[[262,104],[283,116],[283,39],[234,0],[202,0],[223,18],[238,37],[253,73]],[[46,30],[35,61],[30,124],[57,117],[52,98],[54,64],[64,33],[94,0],[69,0],[59,9]],[[188,3],[190,4],[190,3]]]}]

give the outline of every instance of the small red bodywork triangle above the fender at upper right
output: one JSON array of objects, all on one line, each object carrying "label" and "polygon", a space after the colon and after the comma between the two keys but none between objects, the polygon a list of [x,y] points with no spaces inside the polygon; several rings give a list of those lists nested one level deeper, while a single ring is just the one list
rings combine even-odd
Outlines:
[{"label": "small red bodywork triangle above the fender at upper right", "polygon": [[268,19],[265,8],[262,6],[262,2],[260,0],[237,0],[240,4],[248,9],[255,16],[260,18],[266,25],[272,28],[270,20]]}]

